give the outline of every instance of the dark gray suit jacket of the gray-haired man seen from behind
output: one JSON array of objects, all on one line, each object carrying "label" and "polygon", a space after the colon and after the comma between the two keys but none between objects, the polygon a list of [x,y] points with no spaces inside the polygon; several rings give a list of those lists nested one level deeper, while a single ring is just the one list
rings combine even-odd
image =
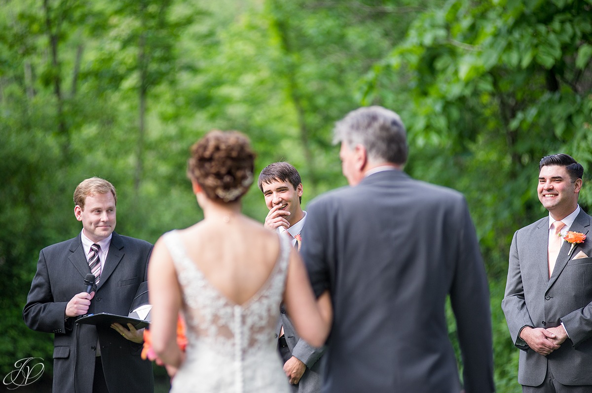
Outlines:
[{"label": "dark gray suit jacket of the gray-haired man seen from behind", "polygon": [[382,171],[307,213],[301,252],[334,312],[324,392],[459,392],[448,294],[465,391],[494,391],[487,278],[460,193]]}]

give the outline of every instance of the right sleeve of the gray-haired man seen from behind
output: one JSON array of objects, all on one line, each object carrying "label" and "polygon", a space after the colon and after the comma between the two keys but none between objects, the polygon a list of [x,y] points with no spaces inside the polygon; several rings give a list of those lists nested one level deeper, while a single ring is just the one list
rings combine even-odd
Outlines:
[{"label": "right sleeve of the gray-haired man seen from behind", "polygon": [[458,263],[450,296],[464,365],[465,392],[493,392],[493,340],[487,275],[464,199],[456,209],[455,216],[460,220]]}]

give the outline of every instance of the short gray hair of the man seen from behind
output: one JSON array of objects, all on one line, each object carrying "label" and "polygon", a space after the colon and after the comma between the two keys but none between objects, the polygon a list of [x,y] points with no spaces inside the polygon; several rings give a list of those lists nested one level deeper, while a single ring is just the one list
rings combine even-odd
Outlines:
[{"label": "short gray hair of the man seen from behind", "polygon": [[362,145],[372,163],[407,161],[407,132],[397,113],[382,106],[366,106],[349,112],[338,121],[333,142],[345,142],[349,148]]}]

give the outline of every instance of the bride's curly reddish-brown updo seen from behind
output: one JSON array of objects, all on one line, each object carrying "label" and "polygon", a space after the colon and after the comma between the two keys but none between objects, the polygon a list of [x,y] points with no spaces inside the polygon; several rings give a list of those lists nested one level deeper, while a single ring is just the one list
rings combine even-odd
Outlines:
[{"label": "bride's curly reddish-brown updo seen from behind", "polygon": [[187,174],[208,198],[229,203],[249,190],[254,161],[249,138],[238,131],[215,129],[191,147]]}]

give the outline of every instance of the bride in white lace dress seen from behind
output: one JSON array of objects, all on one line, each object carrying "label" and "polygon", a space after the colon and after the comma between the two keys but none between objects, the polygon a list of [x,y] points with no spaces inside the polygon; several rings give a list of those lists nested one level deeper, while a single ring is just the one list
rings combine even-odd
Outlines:
[{"label": "bride in white lace dress seen from behind", "polygon": [[[204,219],[165,233],[149,262],[150,334],[173,392],[288,391],[274,339],[283,300],[298,334],[322,346],[332,308],[314,298],[286,239],[241,213],[255,153],[236,131],[211,131],[191,148],[188,176]],[[176,344],[179,311],[188,347]]]}]

